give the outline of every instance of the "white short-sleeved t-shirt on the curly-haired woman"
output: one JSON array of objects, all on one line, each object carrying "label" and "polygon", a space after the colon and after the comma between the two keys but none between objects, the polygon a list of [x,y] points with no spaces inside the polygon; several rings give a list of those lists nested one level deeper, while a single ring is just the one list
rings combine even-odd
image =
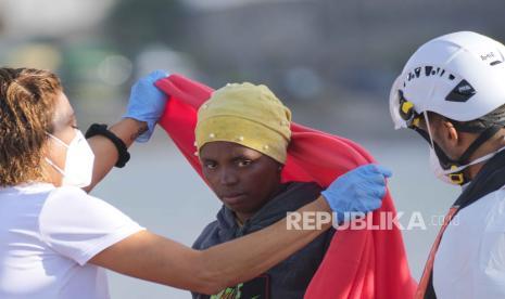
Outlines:
[{"label": "white short-sleeved t-shirt on the curly-haired woman", "polygon": [[104,270],[87,262],[141,230],[77,187],[0,188],[0,298],[109,298]]}]

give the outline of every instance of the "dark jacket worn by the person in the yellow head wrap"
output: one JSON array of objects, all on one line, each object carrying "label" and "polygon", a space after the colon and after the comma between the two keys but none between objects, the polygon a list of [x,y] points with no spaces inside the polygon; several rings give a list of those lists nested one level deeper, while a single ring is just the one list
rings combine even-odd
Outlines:
[{"label": "dark jacket worn by the person in the yellow head wrap", "polygon": [[[283,219],[288,211],[294,211],[302,206],[314,202],[320,194],[320,187],[315,183],[292,182],[282,185],[282,191],[263,206],[252,218],[250,218],[242,227],[240,227],[235,219],[235,213],[222,207],[217,213],[217,220],[210,223],[195,240],[193,248],[206,249],[217,244],[253,233],[262,230],[275,222]],[[321,234],[307,246],[295,252],[287,260],[280,262],[276,266],[266,272],[268,276],[269,298],[273,299],[296,299],[303,298],[305,289],[315,274],[323,257],[328,249],[328,245],[334,230]],[[257,286],[258,280],[247,282],[243,286]],[[260,283],[262,284],[262,283]],[[263,288],[263,285],[261,286]],[[251,288],[251,287],[250,287]],[[241,297],[248,298],[250,295],[242,291]],[[206,295],[193,294],[193,298],[209,298]],[[257,297],[264,299],[264,297]]]}]

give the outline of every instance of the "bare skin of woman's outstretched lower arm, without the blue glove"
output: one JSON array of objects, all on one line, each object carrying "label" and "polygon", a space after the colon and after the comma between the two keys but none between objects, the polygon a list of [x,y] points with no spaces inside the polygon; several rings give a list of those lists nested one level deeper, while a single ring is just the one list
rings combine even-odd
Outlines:
[{"label": "bare skin of woman's outstretched lower arm, without the blue glove", "polygon": [[[298,210],[330,212],[330,208],[319,197]],[[137,278],[211,295],[264,273],[330,226],[331,223],[325,223],[320,230],[288,230],[285,219],[202,251],[144,231],[106,248],[90,263]]]}]

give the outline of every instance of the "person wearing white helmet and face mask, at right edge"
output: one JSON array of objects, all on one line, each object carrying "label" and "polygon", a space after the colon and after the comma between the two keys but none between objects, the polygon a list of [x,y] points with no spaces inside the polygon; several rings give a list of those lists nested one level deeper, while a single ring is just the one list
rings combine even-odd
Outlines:
[{"label": "person wearing white helmet and face mask, at right edge", "polygon": [[435,176],[463,186],[416,298],[505,298],[504,60],[489,37],[445,35],[421,46],[391,89],[395,128],[426,139]]}]

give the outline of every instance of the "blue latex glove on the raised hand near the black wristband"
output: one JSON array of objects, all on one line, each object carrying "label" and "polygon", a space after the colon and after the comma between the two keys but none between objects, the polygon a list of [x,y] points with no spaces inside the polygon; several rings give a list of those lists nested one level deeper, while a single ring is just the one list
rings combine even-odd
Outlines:
[{"label": "blue latex glove on the raised hand near the black wristband", "polygon": [[165,110],[166,94],[159,90],[154,83],[168,76],[165,70],[154,70],[140,78],[132,87],[128,107],[123,118],[134,118],[148,123],[148,131],[137,138],[138,142],[147,142],[156,126],[157,120]]}]

